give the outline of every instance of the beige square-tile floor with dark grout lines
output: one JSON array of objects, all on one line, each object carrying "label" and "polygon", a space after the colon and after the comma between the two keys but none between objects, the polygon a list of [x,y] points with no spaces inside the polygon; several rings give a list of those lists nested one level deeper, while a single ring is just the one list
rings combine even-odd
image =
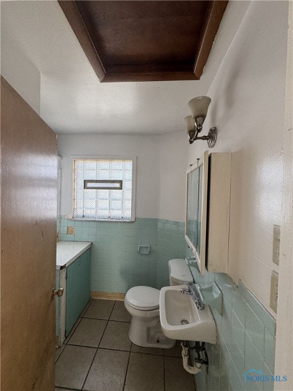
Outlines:
[{"label": "beige square-tile floor with dark grout lines", "polygon": [[55,391],[195,391],[180,344],[137,346],[128,338],[130,319],[123,301],[92,299],[56,349]]}]

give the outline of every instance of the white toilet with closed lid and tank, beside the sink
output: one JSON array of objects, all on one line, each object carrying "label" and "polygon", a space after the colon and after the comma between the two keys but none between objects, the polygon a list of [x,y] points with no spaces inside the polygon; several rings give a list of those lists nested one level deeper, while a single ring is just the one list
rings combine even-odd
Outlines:
[{"label": "white toilet with closed lid and tank, beside the sink", "polygon": [[[170,286],[193,282],[185,259],[171,259],[169,266]],[[160,325],[160,291],[151,287],[133,287],[124,298],[124,305],[132,316],[129,339],[138,346],[172,348],[176,341],[165,337]]]}]

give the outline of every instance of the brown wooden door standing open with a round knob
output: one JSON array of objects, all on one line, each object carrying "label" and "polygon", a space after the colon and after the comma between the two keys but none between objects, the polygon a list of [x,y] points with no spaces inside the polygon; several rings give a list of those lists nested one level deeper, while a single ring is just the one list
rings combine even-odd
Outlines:
[{"label": "brown wooden door standing open with a round knob", "polygon": [[1,78],[1,390],[54,389],[57,141]]}]

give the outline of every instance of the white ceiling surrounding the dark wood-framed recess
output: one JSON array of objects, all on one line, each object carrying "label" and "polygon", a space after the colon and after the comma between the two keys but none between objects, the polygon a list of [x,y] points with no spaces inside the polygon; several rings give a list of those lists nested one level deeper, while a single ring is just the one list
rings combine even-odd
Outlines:
[{"label": "white ceiling surrounding the dark wood-framed recess", "polygon": [[[174,133],[184,130],[187,102],[207,94],[248,5],[229,2],[195,81],[100,83],[56,1],[2,2],[2,45],[14,45],[39,71],[40,115],[57,134]],[[2,58],[2,69],[8,63]],[[8,80],[16,90],[19,76]]]}]

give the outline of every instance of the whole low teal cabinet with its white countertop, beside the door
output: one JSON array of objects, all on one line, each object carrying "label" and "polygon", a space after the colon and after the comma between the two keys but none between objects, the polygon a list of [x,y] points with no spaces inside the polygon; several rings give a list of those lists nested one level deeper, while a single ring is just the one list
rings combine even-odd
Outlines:
[{"label": "whole low teal cabinet with its white countertop, beside the door", "polygon": [[56,346],[59,347],[91,298],[90,268],[92,242],[57,242],[56,289],[64,288],[56,299]]}]

